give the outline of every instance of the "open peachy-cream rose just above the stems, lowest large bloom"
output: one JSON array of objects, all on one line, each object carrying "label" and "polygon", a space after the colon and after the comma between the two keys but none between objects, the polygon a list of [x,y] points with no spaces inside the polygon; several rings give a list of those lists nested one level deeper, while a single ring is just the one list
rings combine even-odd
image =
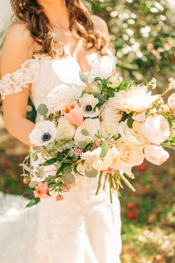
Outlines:
[{"label": "open peachy-cream rose just above the stems, lowest large bloom", "polygon": [[122,141],[121,145],[118,147],[120,155],[116,155],[110,167],[131,175],[131,168],[143,163],[144,153],[137,145],[126,140],[124,142],[122,138],[120,138],[120,141]]}]

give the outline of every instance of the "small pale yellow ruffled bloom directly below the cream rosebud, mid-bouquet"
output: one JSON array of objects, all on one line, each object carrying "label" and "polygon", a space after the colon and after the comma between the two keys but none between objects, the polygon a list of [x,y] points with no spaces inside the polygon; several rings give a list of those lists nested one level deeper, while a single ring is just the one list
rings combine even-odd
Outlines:
[{"label": "small pale yellow ruffled bloom directly below the cream rosebud, mid-bouquet", "polygon": [[107,120],[104,120],[103,122],[100,122],[101,130],[102,130],[102,137],[107,138],[110,135],[115,135],[118,137],[119,134],[119,124],[115,122],[108,122]]}]

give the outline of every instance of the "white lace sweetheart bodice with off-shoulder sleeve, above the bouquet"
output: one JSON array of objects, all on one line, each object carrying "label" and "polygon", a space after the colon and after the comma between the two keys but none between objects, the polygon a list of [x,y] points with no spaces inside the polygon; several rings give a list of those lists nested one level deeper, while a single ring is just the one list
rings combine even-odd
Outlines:
[{"label": "white lace sweetheart bodice with off-shoulder sleeve, above the bouquet", "polygon": [[[89,83],[97,76],[107,78],[115,70],[115,57],[109,49],[106,52],[107,55],[104,56],[100,56],[98,52],[93,54],[92,67],[90,72],[87,72]],[[34,59],[24,62],[20,69],[2,77],[1,97],[5,99],[9,94],[18,93],[31,83],[29,95],[35,108],[38,108],[40,103],[45,103],[46,96],[52,89],[60,84],[67,84],[72,87],[71,99],[76,100],[84,87],[84,83],[79,78],[79,70],[81,68],[73,57],[56,60],[39,58],[35,55]],[[40,118],[37,117],[37,121],[39,120]]]}]

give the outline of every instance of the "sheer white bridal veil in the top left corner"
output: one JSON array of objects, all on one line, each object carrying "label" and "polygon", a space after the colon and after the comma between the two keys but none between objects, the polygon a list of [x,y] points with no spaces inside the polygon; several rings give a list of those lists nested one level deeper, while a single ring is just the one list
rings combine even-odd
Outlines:
[{"label": "sheer white bridal veil in the top left corner", "polygon": [[12,7],[10,5],[10,0],[0,0],[0,55],[2,49],[2,43],[6,36],[9,26],[15,21],[11,17],[13,15]]}]

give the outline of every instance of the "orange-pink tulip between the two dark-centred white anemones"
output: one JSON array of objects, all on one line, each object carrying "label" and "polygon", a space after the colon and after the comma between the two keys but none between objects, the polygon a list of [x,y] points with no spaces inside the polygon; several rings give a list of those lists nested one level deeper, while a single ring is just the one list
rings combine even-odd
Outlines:
[{"label": "orange-pink tulip between the two dark-centred white anemones", "polygon": [[62,109],[63,114],[68,122],[73,125],[81,125],[83,123],[83,109],[81,109],[76,102],[67,104]]}]

